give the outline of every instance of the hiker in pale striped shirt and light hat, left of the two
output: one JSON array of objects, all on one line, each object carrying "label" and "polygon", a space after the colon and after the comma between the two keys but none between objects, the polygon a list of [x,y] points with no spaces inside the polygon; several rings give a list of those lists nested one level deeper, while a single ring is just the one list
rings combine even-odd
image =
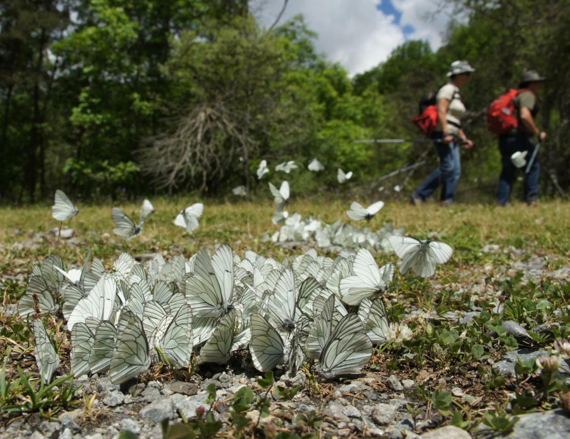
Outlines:
[{"label": "hiker in pale striped shirt and light hat, left of the two", "polygon": [[435,189],[442,184],[441,201],[445,205],[454,202],[455,188],[461,175],[459,148],[473,147],[473,142],[465,136],[461,129],[461,116],[465,113],[465,105],[461,101],[459,91],[465,86],[469,76],[475,69],[467,61],[451,63],[447,77],[449,82],[441,87],[435,95],[437,105],[437,127],[431,134],[439,156],[439,166],[429,177],[412,192],[412,203],[418,205],[426,201]]}]

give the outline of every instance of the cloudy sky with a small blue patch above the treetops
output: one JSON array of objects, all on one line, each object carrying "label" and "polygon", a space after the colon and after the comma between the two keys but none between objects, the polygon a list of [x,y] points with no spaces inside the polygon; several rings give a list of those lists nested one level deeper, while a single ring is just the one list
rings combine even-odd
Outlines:
[{"label": "cloudy sky with a small blue patch above the treetops", "polygon": [[[271,26],[283,0],[251,0],[263,26]],[[437,0],[289,0],[279,24],[303,14],[317,33],[315,47],[353,76],[377,66],[408,39],[423,39],[437,50],[450,14]],[[436,12],[438,11],[438,12]]]}]

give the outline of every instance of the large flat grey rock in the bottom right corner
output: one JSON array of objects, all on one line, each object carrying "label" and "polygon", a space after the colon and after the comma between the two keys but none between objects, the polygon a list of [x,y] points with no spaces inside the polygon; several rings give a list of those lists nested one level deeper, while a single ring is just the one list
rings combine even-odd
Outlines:
[{"label": "large flat grey rock in the bottom right corner", "polygon": [[570,437],[570,418],[564,410],[520,414],[509,439],[565,439]]}]

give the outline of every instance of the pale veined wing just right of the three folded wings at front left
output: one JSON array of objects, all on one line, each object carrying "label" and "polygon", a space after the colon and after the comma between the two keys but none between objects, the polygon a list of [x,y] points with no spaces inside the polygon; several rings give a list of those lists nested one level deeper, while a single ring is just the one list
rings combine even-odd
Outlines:
[{"label": "pale veined wing just right of the three folded wings at front left", "polygon": [[193,344],[192,308],[188,304],[183,304],[166,328],[162,340],[158,342],[158,348],[170,365],[180,369],[190,364]]}]

